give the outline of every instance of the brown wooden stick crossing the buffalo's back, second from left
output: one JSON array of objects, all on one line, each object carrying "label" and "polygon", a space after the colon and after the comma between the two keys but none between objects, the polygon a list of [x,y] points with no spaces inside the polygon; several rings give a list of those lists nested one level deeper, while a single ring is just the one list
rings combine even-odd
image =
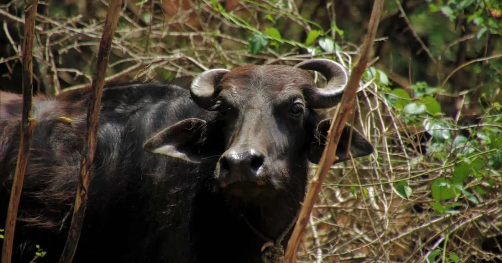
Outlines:
[{"label": "brown wooden stick crossing the buffalo's back, second from left", "polygon": [[111,0],[108,5],[108,13],[99,43],[96,68],[92,76],[92,93],[87,109],[87,136],[82,150],[82,160],[80,163],[80,177],[75,196],[75,207],[71,219],[70,230],[66,239],[66,244],[59,259],[60,263],[70,263],[77,249],[82,223],[84,221],[85,208],[87,204],[87,193],[89,188],[89,177],[96,148],[96,131],[99,121],[99,109],[101,107],[101,97],[103,95],[104,75],[110,56],[111,41],[115,34],[120,6],[122,0]]}]

